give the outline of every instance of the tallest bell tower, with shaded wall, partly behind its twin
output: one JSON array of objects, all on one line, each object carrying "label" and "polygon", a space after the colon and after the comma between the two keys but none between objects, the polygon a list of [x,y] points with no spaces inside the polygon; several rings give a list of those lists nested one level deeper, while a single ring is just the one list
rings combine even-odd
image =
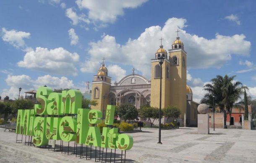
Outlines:
[{"label": "tallest bell tower, with shaded wall, partly behind its twin", "polygon": [[[177,31],[178,33],[178,31]],[[172,105],[177,106],[181,111],[181,119],[184,122],[184,114],[186,113],[186,83],[187,83],[187,53],[184,50],[184,44],[177,36],[172,43],[172,49],[169,49],[169,57],[171,62],[171,97]],[[183,124],[182,124],[183,125]]]}]

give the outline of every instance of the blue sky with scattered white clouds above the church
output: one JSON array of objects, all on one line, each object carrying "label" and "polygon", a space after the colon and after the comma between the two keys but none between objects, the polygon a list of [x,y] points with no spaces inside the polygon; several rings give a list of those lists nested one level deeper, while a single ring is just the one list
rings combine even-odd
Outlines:
[{"label": "blue sky with scattered white clouds above the church", "polygon": [[86,90],[103,57],[112,83],[150,79],[151,59],[176,39],[187,52],[193,100],[216,75],[236,75],[256,98],[255,0],[2,0],[0,96],[18,88]]}]

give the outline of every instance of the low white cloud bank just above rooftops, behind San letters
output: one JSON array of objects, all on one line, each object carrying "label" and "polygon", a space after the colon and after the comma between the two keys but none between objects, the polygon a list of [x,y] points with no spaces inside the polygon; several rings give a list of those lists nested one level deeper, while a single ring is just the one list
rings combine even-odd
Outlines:
[{"label": "low white cloud bank just above rooftops, behind San letters", "polygon": [[68,80],[66,77],[53,77],[50,75],[39,76],[36,80],[31,79],[28,75],[8,75],[5,82],[10,87],[9,89],[4,89],[1,93],[2,97],[9,96],[10,99],[18,98],[19,90],[22,88],[21,96],[25,96],[26,91],[37,90],[38,87],[47,85],[52,89],[54,88],[73,88],[77,89],[72,80]]}]

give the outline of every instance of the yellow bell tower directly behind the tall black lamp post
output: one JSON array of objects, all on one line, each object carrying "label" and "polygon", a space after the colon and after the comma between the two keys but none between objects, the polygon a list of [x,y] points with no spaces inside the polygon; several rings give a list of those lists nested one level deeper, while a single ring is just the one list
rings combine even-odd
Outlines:
[{"label": "yellow bell tower directly behind the tall black lamp post", "polygon": [[157,49],[154,59],[151,60],[151,98],[150,105],[152,107],[159,108],[160,102],[160,73],[161,66],[159,65],[159,57],[164,57],[165,60],[162,64],[162,100],[161,108],[165,108],[170,105],[170,57],[162,45]]}]

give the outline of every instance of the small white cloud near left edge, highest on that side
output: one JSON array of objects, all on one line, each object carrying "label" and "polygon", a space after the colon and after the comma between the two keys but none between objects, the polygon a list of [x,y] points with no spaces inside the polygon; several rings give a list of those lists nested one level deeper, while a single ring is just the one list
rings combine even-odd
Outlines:
[{"label": "small white cloud near left edge, highest on that side", "polygon": [[30,33],[16,31],[15,29],[7,31],[6,28],[2,28],[2,33],[3,41],[8,42],[16,48],[24,47],[26,45],[24,39],[28,39],[30,36]]}]

